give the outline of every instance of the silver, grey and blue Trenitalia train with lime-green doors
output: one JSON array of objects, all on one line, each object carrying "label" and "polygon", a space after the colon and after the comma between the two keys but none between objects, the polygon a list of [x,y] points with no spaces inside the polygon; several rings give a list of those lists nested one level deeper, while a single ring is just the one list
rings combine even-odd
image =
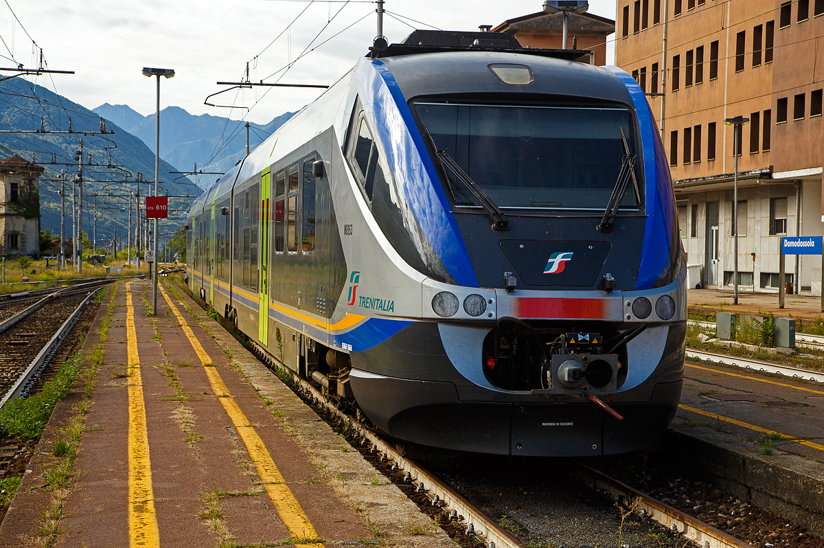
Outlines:
[{"label": "silver, grey and blue Trenitalia train with lime-green doors", "polygon": [[644,91],[588,59],[376,41],[194,200],[186,283],[399,444],[653,447],[683,384],[686,260]]}]

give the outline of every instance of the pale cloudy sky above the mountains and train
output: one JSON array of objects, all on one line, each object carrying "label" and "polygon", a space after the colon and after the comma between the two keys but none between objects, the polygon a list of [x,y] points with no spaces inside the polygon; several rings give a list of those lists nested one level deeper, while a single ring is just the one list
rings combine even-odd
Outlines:
[{"label": "pale cloudy sky above the mountains and train", "polygon": [[[383,34],[391,43],[413,27],[478,30],[541,12],[542,3],[386,0]],[[590,13],[615,19],[615,0],[589,3]],[[176,105],[194,115],[265,124],[321,91],[255,87],[208,101],[232,109],[204,101],[227,88],[216,82],[240,81],[247,62],[252,82],[334,83],[368,53],[377,35],[376,7],[368,0],[4,0],[0,67],[13,61],[34,68],[42,48],[49,69],[75,74],[30,77],[31,82],[88,109],[129,105],[142,115],[153,114],[157,100],[154,79],[141,69],[172,68],[175,77],[161,82],[161,109]]]}]

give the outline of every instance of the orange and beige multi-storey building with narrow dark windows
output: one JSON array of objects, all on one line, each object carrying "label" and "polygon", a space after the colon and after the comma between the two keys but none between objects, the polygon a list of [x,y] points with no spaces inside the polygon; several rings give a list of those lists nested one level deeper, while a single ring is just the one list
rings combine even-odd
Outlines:
[{"label": "orange and beige multi-storey building with narrow dark windows", "polygon": [[[644,87],[676,190],[681,239],[702,283],[821,292],[820,256],[780,237],[824,235],[824,0],[618,0],[616,65]],[[734,256],[734,126],[738,254]]]}]

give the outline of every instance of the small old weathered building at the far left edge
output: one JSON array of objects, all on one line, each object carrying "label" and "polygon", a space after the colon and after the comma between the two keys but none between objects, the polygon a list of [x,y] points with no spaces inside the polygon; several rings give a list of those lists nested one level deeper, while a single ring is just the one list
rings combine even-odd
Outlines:
[{"label": "small old weathered building at the far left edge", "polygon": [[0,162],[0,254],[40,254],[40,174],[44,168],[14,155]]}]

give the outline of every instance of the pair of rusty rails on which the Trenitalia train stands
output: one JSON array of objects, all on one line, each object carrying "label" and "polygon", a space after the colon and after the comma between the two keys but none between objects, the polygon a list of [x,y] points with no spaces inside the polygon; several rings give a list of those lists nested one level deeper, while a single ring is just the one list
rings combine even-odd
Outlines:
[{"label": "pair of rusty rails on which the Trenitalia train stands", "polygon": [[[262,349],[255,347],[255,354],[270,368],[283,368]],[[365,457],[385,475],[399,485],[433,520],[462,546],[474,546],[479,542],[489,548],[526,548],[513,534],[501,527],[494,519],[464,498],[438,475],[428,471],[418,462],[406,457],[402,450],[365,428],[350,415],[337,409],[335,402],[326,399],[316,386],[293,375],[293,390],[297,391],[327,415],[327,419],[342,433],[348,433],[355,447],[360,447]],[[652,518],[672,533],[706,548],[743,548],[748,546],[733,536],[682,513],[677,508],[653,499],[637,489],[611,479],[602,472],[574,463],[574,475],[583,483],[621,499],[625,507],[633,508],[642,518]]]}]

